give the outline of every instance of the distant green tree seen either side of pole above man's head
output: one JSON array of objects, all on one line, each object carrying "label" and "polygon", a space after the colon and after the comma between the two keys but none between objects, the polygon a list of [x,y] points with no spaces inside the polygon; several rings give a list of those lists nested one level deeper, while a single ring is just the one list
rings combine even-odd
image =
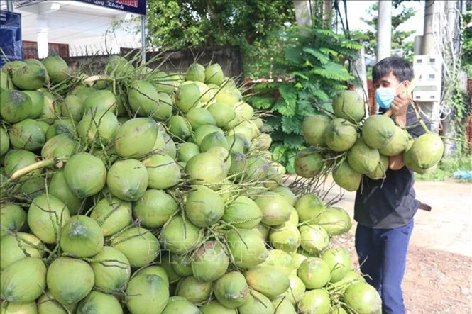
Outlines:
[{"label": "distant green tree seen either side of pole above man's head", "polygon": [[[401,1],[404,2],[404,1]],[[395,6],[395,11],[400,9],[401,11],[397,14],[392,15],[392,49],[403,50],[404,57],[412,57],[413,55],[413,41],[407,41],[410,35],[415,33],[415,30],[398,30],[398,26],[405,23],[410,18],[415,16],[417,13],[416,9],[407,8],[402,3]],[[378,3],[372,4],[366,12],[368,18],[361,18],[361,20],[371,26],[368,30],[354,30],[351,32],[351,38],[353,40],[360,40],[364,43],[364,49],[367,54],[375,55],[377,52],[377,23],[378,23]]]}]

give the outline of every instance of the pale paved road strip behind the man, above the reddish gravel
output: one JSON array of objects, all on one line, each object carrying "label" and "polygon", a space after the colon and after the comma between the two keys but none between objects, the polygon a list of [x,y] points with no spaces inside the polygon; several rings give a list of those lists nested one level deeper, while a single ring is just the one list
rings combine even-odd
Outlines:
[{"label": "pale paved road strip behind the man, above the reddish gravel", "polygon": [[[416,181],[415,190],[417,199],[432,211],[419,210],[415,215],[411,245],[472,257],[472,184]],[[336,206],[352,216],[354,196],[355,192],[346,192]]]}]

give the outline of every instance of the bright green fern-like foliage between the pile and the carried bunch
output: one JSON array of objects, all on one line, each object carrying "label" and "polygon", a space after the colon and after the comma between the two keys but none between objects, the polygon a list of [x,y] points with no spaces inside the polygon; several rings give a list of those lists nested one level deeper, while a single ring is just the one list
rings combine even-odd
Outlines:
[{"label": "bright green fern-like foliage between the pile and the carried bunch", "polygon": [[270,150],[293,173],[295,155],[305,148],[304,118],[332,111],[334,94],[354,80],[346,60],[358,54],[361,44],[329,29],[299,26],[285,30],[279,38],[285,52],[275,59],[274,69],[290,81],[257,84],[249,101],[255,108],[272,111],[266,118],[273,131]]}]

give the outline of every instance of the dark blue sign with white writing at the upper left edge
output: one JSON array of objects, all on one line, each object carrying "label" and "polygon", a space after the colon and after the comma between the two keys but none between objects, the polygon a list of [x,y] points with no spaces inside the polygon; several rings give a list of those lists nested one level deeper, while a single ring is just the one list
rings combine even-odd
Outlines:
[{"label": "dark blue sign with white writing at the upper left edge", "polygon": [[0,11],[0,67],[6,62],[23,60],[21,14]]}]

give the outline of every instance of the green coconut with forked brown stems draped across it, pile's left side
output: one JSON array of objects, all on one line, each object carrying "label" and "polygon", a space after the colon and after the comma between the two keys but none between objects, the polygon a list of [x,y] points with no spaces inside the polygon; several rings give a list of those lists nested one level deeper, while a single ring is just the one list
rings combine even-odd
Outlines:
[{"label": "green coconut with forked brown stems draped across it, pile's left side", "polygon": [[52,195],[36,196],[28,210],[28,225],[41,241],[52,244],[60,235],[61,228],[70,219],[65,203]]}]

